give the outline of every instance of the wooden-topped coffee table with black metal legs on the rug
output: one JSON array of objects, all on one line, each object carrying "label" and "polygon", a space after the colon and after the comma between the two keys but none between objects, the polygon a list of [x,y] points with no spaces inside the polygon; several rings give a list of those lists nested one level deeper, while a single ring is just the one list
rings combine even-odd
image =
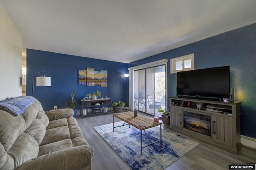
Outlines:
[{"label": "wooden-topped coffee table with black metal legs on the rug", "polygon": [[[126,125],[132,125],[136,128],[138,128],[140,130],[140,154],[142,154],[142,148],[145,148],[147,146],[150,146],[156,142],[160,142],[160,146],[162,147],[162,123],[158,122],[158,123],[154,123],[153,118],[147,118],[144,117],[142,115],[138,115],[137,117],[134,117],[134,113],[133,112],[122,112],[122,113],[114,113],[113,114],[113,132],[114,132],[114,128],[116,128],[114,126],[114,117],[117,117],[118,119],[121,119],[122,121],[124,121],[125,123],[128,123]],[[125,123],[121,126],[125,126]],[[148,137],[147,133],[145,132],[145,129],[148,128],[152,128],[152,127],[156,127],[160,125],[160,140],[156,141],[156,142],[151,142],[150,138]],[[118,126],[118,127],[121,127]],[[145,132],[146,136],[148,137],[150,144],[143,146],[142,147],[142,130]]]}]

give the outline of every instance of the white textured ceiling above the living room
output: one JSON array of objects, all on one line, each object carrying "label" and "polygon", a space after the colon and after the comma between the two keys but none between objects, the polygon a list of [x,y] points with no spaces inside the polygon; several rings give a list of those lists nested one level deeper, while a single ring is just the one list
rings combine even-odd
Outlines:
[{"label": "white textured ceiling above the living room", "polygon": [[23,47],[130,63],[256,23],[256,0],[0,0]]}]

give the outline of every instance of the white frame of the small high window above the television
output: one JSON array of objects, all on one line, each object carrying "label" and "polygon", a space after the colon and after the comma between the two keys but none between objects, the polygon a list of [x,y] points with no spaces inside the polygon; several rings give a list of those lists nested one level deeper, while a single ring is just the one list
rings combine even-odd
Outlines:
[{"label": "white frame of the small high window above the television", "polygon": [[[184,61],[188,60],[188,59],[191,59],[191,67],[185,69]],[[178,62],[178,61],[182,61],[182,69],[180,69],[180,70],[176,70],[176,62]],[[173,74],[173,73],[177,73],[180,71],[194,70],[195,69],[194,65],[195,65],[194,64],[194,53],[188,54],[188,55],[183,55],[181,57],[172,58],[172,59],[170,59],[170,73]]]}]

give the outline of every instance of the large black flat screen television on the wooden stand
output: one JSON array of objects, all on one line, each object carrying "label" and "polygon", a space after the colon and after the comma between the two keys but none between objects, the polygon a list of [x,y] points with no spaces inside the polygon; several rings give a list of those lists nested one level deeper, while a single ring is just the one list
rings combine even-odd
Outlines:
[{"label": "large black flat screen television on the wooden stand", "polygon": [[177,73],[177,96],[221,101],[230,97],[229,66]]}]

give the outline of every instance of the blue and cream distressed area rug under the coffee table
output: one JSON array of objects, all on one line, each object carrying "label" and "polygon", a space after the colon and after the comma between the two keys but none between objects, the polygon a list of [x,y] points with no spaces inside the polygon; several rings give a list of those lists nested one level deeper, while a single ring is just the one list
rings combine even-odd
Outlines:
[{"label": "blue and cream distressed area rug under the coffee table", "polygon": [[[115,127],[124,122],[115,123]],[[160,127],[160,126],[159,126]],[[160,128],[146,129],[152,142],[160,139]],[[115,128],[113,123],[94,127],[112,149],[132,168],[132,170],[161,170],[172,164],[178,158],[196,147],[199,143],[162,129],[162,148],[156,142],[142,149],[140,155],[140,130],[131,126]],[[146,134],[142,131],[142,146],[150,144]]]}]

